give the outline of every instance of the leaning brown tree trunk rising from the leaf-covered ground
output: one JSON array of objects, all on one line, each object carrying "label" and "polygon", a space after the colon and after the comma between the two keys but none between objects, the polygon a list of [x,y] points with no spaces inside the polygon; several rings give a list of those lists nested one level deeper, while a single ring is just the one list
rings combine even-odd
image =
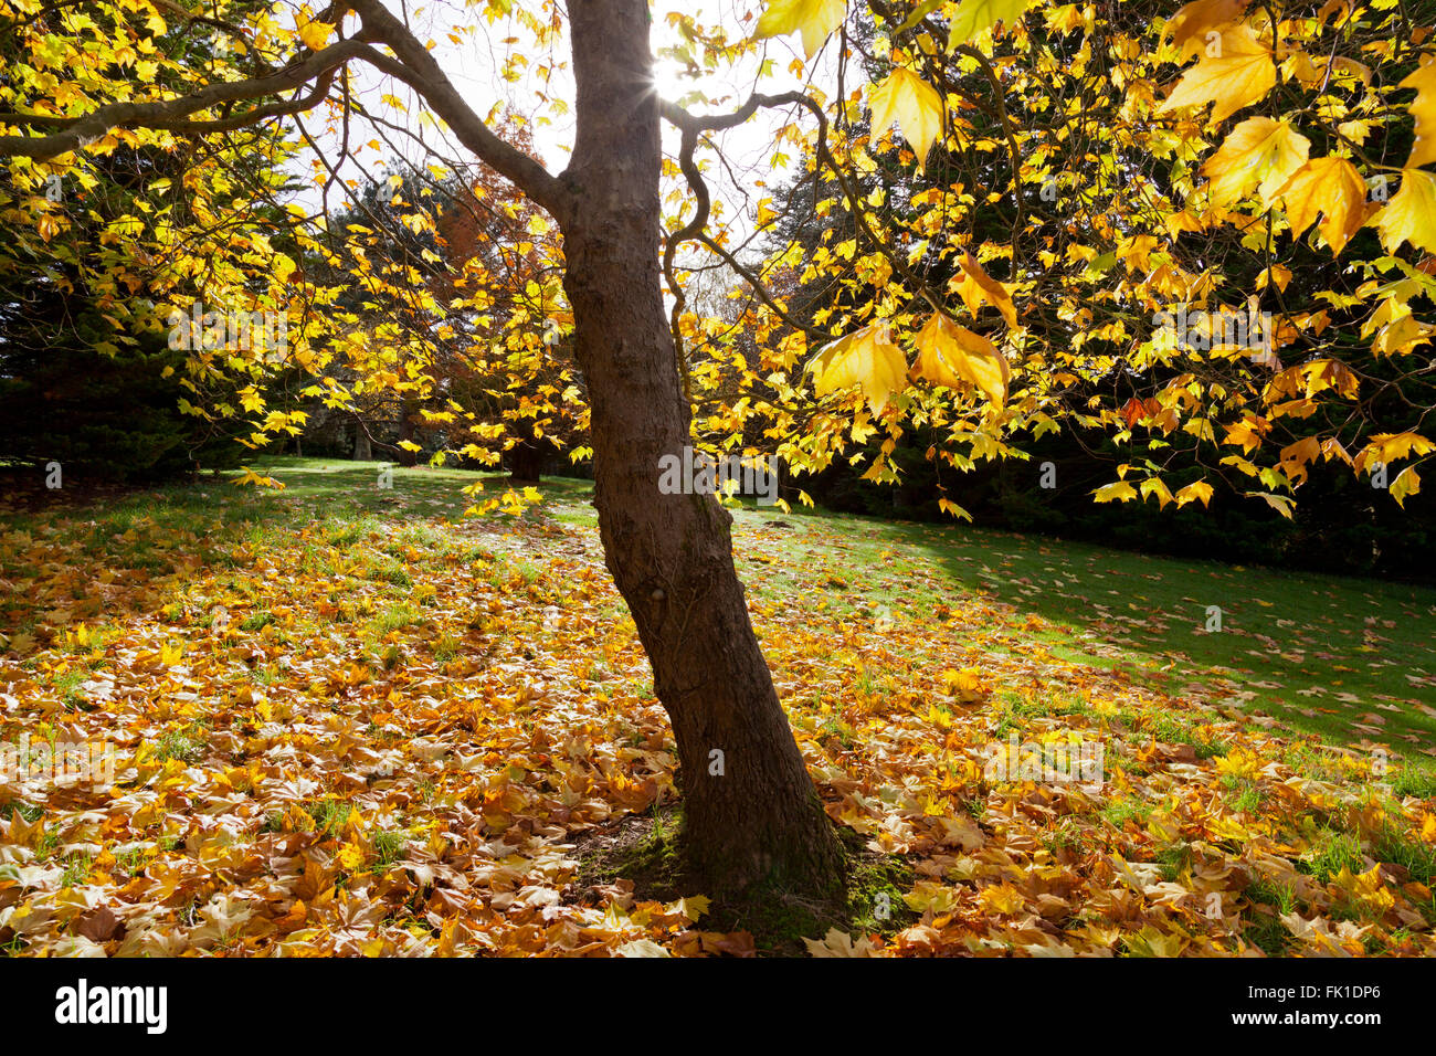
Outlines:
[{"label": "leaning brown tree trunk rising from the leaf-covered ground", "polygon": [[843,884],[841,853],[778,705],[711,496],[665,496],[689,443],[659,286],[659,109],[646,0],[570,0],[577,141],[560,218],[576,356],[593,412],[609,570],[673,726],[684,843],[717,891]]}]

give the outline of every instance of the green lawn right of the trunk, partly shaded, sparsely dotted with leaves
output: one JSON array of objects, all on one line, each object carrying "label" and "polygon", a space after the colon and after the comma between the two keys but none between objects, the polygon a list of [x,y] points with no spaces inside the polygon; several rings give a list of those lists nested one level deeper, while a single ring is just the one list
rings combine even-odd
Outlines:
[{"label": "green lawn right of the trunk, partly shaded, sparsely dotted with leaves", "polygon": [[[1436,746],[1436,589],[797,507],[750,506],[735,520],[787,526],[765,555],[778,560],[738,555],[758,596],[869,619],[1007,602],[1053,624],[1024,635],[1061,658],[1173,694],[1222,680],[1216,703],[1340,743]],[[1219,634],[1205,629],[1209,605]]]}]

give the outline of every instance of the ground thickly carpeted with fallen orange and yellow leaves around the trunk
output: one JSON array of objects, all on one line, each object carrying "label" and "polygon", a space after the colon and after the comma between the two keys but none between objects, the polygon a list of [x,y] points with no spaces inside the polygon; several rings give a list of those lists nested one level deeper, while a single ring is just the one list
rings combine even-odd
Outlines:
[{"label": "ground thickly carpeted with fallen orange and yellow leaves around the trunk", "polygon": [[[1074,632],[959,550],[741,511],[755,625],[864,863],[849,920],[780,934],[615,868],[671,840],[676,756],[582,490],[465,520],[465,474],[277,476],[0,520],[0,743],[115,761],[98,787],[0,773],[9,953],[1436,954],[1425,657],[1383,652],[1407,695],[1351,694],[1412,723],[1318,736],[1231,670],[1113,662],[1129,625]],[[1100,783],[994,773],[1011,743],[1100,746]]]}]

